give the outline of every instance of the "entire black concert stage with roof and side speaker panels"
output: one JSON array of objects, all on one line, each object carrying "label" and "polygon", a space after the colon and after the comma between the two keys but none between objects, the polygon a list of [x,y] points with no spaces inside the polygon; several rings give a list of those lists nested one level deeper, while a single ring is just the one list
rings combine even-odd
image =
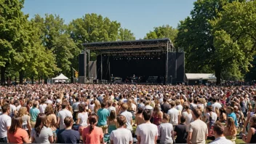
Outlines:
[{"label": "entire black concert stage with roof and side speaker panels", "polygon": [[79,55],[79,79],[84,81],[84,76],[89,76],[92,67],[87,64],[87,55],[95,52],[96,79],[99,81],[111,82],[113,77],[120,77],[124,81],[132,77],[137,79],[136,83],[147,83],[148,78],[157,77],[154,83],[184,82],[185,55],[183,49],[175,49],[170,39],[93,42],[83,46],[84,53]]}]

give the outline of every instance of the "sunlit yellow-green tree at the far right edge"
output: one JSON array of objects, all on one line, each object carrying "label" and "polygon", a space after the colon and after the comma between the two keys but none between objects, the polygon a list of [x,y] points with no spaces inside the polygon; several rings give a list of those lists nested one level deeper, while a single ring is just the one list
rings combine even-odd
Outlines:
[{"label": "sunlit yellow-green tree at the far right edge", "polygon": [[256,51],[256,1],[234,1],[223,7],[210,24],[214,33],[215,58],[221,71],[243,78]]}]

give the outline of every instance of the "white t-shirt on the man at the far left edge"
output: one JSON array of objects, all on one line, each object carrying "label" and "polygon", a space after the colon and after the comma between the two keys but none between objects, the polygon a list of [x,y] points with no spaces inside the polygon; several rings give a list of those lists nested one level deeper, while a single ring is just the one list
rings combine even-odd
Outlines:
[{"label": "white t-shirt on the man at the far left edge", "polygon": [[7,127],[11,127],[11,117],[3,114],[0,116],[0,137],[7,137]]}]

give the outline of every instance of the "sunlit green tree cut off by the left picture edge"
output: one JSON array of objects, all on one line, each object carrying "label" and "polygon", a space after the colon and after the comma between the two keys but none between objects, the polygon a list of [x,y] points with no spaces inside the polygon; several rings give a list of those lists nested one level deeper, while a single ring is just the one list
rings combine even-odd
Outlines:
[{"label": "sunlit green tree cut off by the left picture edge", "polygon": [[[11,65],[15,55],[15,47],[23,41],[24,0],[0,1],[0,68],[1,84],[4,84],[6,69]],[[25,34],[25,33],[24,33]]]}]

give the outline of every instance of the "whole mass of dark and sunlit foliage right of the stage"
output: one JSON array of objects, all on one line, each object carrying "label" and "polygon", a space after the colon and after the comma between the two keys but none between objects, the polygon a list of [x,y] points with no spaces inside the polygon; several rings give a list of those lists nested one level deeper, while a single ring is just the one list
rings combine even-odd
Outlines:
[{"label": "whole mass of dark and sunlit foliage right of the stage", "polygon": [[[237,32],[241,28],[249,28],[249,25],[238,25],[237,22],[244,20],[247,23],[249,17],[254,17],[255,8],[238,7],[253,1],[233,1],[198,0],[194,3],[191,17],[185,18],[178,25],[179,33],[175,43],[176,47],[185,49],[189,73],[215,72],[217,82],[220,83],[223,72],[237,79],[248,71],[252,55],[247,52],[252,50],[252,39],[246,39],[248,34],[237,39]],[[255,30],[251,28],[250,31]],[[237,34],[233,36],[233,33]]]}]

